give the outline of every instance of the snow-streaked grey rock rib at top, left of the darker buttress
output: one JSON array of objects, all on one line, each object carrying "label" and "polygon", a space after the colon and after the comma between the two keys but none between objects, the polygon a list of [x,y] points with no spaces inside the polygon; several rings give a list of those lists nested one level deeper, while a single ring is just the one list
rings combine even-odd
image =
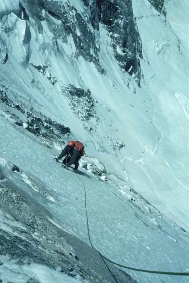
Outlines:
[{"label": "snow-streaked grey rock rib at top, left of the darker buttress", "polygon": [[[57,52],[61,53],[57,40],[61,39],[67,43],[67,36],[71,34],[76,47],[76,58],[83,56],[86,61],[93,62],[98,71],[105,72],[100,66],[94,34],[71,2],[26,0],[26,3],[33,13],[38,29],[43,30],[40,21],[45,20],[47,22],[54,35],[53,43]],[[45,10],[44,13],[42,13],[43,9]],[[58,20],[59,24],[55,23],[51,17]]]}]

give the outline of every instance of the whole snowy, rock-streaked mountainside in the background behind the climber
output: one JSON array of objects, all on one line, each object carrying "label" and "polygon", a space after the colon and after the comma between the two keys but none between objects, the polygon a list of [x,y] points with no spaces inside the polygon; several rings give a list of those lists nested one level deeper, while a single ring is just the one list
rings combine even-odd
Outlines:
[{"label": "whole snowy, rock-streaked mountainside in the background behind the climber", "polygon": [[1,3],[1,116],[188,230],[188,2]]}]

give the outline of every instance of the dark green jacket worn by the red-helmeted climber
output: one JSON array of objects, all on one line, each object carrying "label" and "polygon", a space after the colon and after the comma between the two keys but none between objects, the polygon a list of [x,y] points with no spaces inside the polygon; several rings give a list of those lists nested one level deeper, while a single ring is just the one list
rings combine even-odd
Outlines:
[{"label": "dark green jacket worn by the red-helmeted climber", "polygon": [[68,159],[68,163],[64,162],[68,167],[72,164],[77,164],[79,159],[81,158],[81,155],[77,148],[70,148],[68,145],[65,146],[61,154],[58,156],[58,159],[61,159],[63,156],[66,156]]}]

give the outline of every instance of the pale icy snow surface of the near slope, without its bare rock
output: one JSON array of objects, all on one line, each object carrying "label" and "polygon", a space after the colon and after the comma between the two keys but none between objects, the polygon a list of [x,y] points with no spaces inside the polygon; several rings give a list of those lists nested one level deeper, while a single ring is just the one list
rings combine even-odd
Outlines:
[{"label": "pale icy snow surface of the near slope, without its bare rock", "polygon": [[[5,164],[4,159],[10,160],[23,171],[9,174],[9,178],[22,190],[27,188],[25,193],[49,211],[51,216],[47,215],[47,218],[53,224],[89,244],[82,182],[71,170],[67,171],[53,161],[57,151],[45,147],[40,138],[11,124],[4,117],[0,117],[0,125],[1,164]],[[114,183],[100,182],[85,169],[78,176],[83,180],[87,191],[89,231],[96,249],[107,258],[126,266],[187,272],[187,232],[180,230],[174,222],[144,201],[129,201],[128,194],[121,192],[120,187]],[[3,193],[2,189],[0,193]],[[3,223],[1,229],[14,234],[9,230],[11,223],[6,223],[6,220]],[[13,265],[7,257],[1,257],[1,261],[3,265],[0,266],[0,274],[3,278],[8,278],[7,270],[11,274],[17,270],[16,261]],[[18,270],[22,274],[26,269],[30,271],[29,274],[33,272],[37,278],[41,278],[38,275],[40,266],[22,266]],[[42,268],[42,274],[46,270],[45,267]],[[57,276],[57,281],[54,279],[55,281],[47,282],[62,282],[59,279],[61,276],[56,275],[55,271],[49,272],[51,276]],[[126,272],[138,282],[176,283],[188,280],[184,276],[154,275],[130,270]],[[65,282],[69,282],[66,280]]]}]

